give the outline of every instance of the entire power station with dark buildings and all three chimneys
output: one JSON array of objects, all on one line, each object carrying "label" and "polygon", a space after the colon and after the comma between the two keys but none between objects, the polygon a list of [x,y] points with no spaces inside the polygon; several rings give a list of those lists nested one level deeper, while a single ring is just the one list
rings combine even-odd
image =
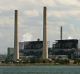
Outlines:
[{"label": "entire power station with dark buildings and all three chimneys", "polygon": [[[17,62],[21,57],[40,58],[43,61],[53,58],[53,55],[66,55],[72,58],[77,49],[80,50],[80,40],[65,39],[63,40],[63,29],[60,27],[60,40],[56,40],[52,44],[52,48],[48,47],[48,27],[47,27],[47,7],[43,7],[43,41],[18,41],[18,10],[15,10],[14,16],[14,48],[8,49],[8,54],[13,53],[13,60]],[[19,48],[20,47],[20,48]]]}]

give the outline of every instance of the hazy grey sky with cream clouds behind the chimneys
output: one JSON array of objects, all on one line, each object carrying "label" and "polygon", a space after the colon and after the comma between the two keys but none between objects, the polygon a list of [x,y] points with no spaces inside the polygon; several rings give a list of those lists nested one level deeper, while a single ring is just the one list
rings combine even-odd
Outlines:
[{"label": "hazy grey sky with cream clouds behind the chimneys", "polygon": [[0,0],[0,53],[14,43],[14,10],[19,10],[19,41],[43,39],[43,6],[47,6],[48,41],[80,39],[80,0]]}]

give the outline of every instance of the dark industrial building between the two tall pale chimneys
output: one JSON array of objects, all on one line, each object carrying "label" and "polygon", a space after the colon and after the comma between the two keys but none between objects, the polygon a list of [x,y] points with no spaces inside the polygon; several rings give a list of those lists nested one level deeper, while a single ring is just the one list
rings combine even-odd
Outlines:
[{"label": "dark industrial building between the two tall pale chimneys", "polygon": [[23,53],[24,56],[29,57],[42,57],[42,48],[43,48],[43,41],[26,41],[20,42],[20,52]]}]

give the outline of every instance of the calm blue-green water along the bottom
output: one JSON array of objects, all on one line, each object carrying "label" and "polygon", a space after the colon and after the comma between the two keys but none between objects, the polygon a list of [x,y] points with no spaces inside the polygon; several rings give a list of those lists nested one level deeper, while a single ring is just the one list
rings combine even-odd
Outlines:
[{"label": "calm blue-green water along the bottom", "polygon": [[0,74],[80,74],[80,66],[0,67]]}]

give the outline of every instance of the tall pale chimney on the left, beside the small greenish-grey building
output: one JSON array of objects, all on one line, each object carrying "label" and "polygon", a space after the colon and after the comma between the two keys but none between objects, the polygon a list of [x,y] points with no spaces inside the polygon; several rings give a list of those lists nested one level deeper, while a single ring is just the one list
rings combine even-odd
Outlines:
[{"label": "tall pale chimney on the left, beside the small greenish-grey building", "polygon": [[15,10],[14,20],[14,61],[19,59],[19,43],[18,43],[18,10]]}]

